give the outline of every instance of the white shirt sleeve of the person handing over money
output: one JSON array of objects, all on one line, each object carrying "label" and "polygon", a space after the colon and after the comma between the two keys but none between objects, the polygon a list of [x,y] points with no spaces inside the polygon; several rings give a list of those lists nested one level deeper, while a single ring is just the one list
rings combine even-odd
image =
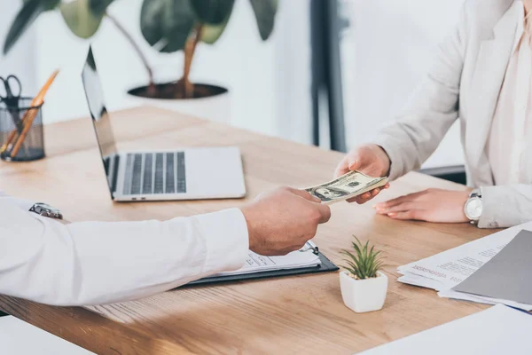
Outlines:
[{"label": "white shirt sleeve of the person handing over money", "polygon": [[43,304],[128,301],[241,267],[249,247],[239,209],[166,222],[64,225],[0,193],[0,294]]}]

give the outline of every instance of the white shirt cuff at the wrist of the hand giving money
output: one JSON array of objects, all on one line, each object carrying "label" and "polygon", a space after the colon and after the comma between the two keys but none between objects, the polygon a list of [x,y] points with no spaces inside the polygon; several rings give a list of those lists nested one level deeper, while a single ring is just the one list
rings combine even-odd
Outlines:
[{"label": "white shirt cuff at the wrist of the hand giving money", "polygon": [[205,236],[207,257],[203,272],[237,270],[246,263],[249,236],[240,209],[224,209],[196,216]]}]

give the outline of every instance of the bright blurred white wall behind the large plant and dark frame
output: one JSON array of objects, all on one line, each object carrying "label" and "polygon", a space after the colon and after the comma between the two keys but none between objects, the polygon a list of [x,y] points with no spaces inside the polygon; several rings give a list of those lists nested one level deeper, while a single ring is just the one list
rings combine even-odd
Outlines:
[{"label": "bright blurred white wall behind the large plant and dark frame", "polygon": [[[457,20],[464,0],[343,0],[352,27],[342,40],[342,70],[348,146],[393,120],[430,66],[434,48]],[[160,82],[182,74],[183,55],[153,51],[140,36],[141,0],[117,0],[110,11],[133,33]],[[18,10],[0,1],[0,42]],[[51,71],[61,68],[46,98],[44,121],[88,114],[80,72],[88,42],[74,37],[58,12],[50,12],[23,37],[0,74],[15,73],[33,94]],[[113,25],[105,22],[93,39],[111,109],[133,105],[125,92],[145,83],[144,67]],[[310,143],[309,0],[279,2],[276,30],[262,43],[247,0],[237,0],[231,22],[213,46],[200,45],[192,79],[231,90],[231,122],[250,130]],[[463,161],[458,126],[426,166]]]}]

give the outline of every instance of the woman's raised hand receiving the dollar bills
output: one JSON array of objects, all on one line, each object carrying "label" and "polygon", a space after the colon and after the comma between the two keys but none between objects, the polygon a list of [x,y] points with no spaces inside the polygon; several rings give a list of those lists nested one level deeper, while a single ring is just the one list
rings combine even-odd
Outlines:
[{"label": "woman's raised hand receiving the dollar bills", "polygon": [[[390,170],[390,158],[384,149],[377,145],[359,146],[347,154],[338,164],[334,177],[340,177],[349,171],[358,170],[371,177],[385,177]],[[348,202],[364,203],[372,200],[382,189],[389,185],[376,188],[360,196],[349,199]]]}]

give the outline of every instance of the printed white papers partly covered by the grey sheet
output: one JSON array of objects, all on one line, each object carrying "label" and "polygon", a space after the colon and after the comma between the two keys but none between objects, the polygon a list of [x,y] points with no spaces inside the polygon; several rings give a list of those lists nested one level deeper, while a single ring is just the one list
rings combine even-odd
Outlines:
[{"label": "printed white papers partly covered by the grey sheet", "polygon": [[446,250],[435,256],[400,266],[397,271],[403,276],[399,281],[424,288],[441,291],[439,296],[464,299],[485,304],[504,303],[523,310],[532,310],[531,304],[520,304],[512,300],[473,296],[453,291],[460,282],[487,263],[505,248],[521,230],[532,230],[532,222],[517,225],[504,231],[471,241],[458,248]]}]

